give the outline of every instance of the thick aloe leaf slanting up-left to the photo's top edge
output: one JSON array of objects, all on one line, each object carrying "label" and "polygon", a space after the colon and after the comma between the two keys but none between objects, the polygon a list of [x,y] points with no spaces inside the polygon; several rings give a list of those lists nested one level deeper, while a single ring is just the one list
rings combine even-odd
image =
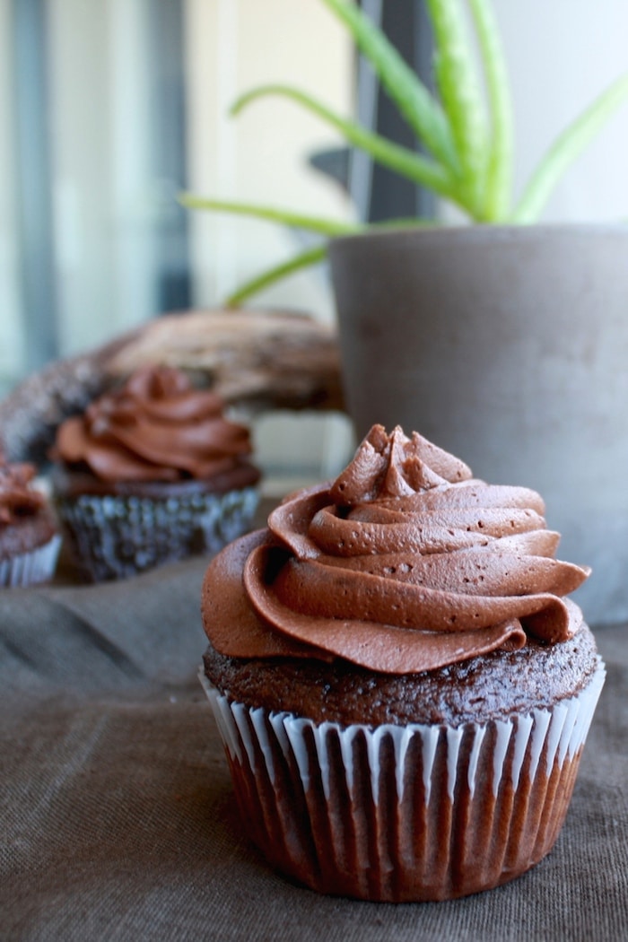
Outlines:
[{"label": "thick aloe leaf slanting up-left to the photo's top edge", "polygon": [[347,27],[362,55],[368,59],[386,89],[430,154],[450,171],[458,170],[451,127],[440,103],[410,68],[395,46],[353,3],[323,0]]}]

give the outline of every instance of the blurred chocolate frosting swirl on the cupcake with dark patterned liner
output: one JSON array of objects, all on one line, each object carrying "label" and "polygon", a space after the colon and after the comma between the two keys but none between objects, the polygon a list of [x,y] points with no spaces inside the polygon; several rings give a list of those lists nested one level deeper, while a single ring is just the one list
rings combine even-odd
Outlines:
[{"label": "blurred chocolate frosting swirl on the cupcake with dark patterned liner", "polygon": [[209,479],[251,451],[246,426],[183,372],[146,366],[57,430],[55,457],[105,481]]}]

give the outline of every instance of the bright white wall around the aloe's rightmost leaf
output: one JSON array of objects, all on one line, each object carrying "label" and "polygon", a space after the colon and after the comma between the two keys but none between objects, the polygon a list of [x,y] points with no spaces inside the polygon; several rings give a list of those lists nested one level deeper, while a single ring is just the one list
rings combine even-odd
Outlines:
[{"label": "bright white wall around the aloe's rightmost leaf", "polygon": [[[626,0],[493,0],[515,109],[515,194],[557,135],[628,72]],[[628,104],[572,165],[542,220],[628,220]],[[445,219],[456,219],[444,211]]]}]

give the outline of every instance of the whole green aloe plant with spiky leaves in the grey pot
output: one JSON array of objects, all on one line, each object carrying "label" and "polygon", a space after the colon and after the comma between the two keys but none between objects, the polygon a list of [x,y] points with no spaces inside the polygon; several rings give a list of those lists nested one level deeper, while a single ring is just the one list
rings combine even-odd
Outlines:
[{"label": "whole green aloe plant with spiky leaves in the grey pot", "polygon": [[[346,120],[305,91],[265,85],[242,95],[233,115],[269,95],[282,96],[312,112],[373,160],[454,203],[471,221],[485,224],[535,222],[572,162],[604,123],[628,99],[623,74],[569,125],[539,161],[522,195],[512,191],[513,115],[507,65],[490,0],[426,0],[434,38],[435,93],[412,71],[395,47],[350,0],[321,0],[346,26],[371,63],[381,86],[421,144],[423,154],[402,147],[361,124]],[[474,43],[475,40],[475,43]],[[228,302],[235,305],[299,268],[324,258],[327,240],[372,228],[374,224],[339,222],[290,210],[231,203],[185,193],[190,209],[236,213],[282,223],[324,236],[320,244],[270,268],[243,284]],[[432,220],[391,219],[385,225],[425,225]],[[381,224],[379,224],[381,225]]]}]

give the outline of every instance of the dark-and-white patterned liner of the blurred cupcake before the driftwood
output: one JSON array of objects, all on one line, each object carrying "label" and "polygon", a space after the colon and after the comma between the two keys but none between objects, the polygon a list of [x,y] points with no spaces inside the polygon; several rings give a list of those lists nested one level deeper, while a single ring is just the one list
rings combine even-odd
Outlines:
[{"label": "dark-and-white patterned liner of the blurred cupcake before the driftwood", "polygon": [[76,565],[93,581],[136,576],[165,562],[214,553],[250,529],[255,487],[177,497],[57,498]]}]

